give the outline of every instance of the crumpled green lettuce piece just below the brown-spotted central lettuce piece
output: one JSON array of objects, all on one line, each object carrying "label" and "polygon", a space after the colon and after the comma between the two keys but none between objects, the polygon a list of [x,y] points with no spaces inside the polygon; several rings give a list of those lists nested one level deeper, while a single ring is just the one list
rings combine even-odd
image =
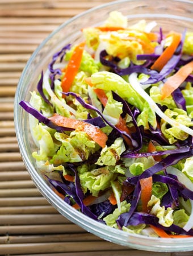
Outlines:
[{"label": "crumpled green lettuce piece just below the brown-spotted central lettuce piece", "polygon": [[107,168],[100,168],[100,170],[95,170],[95,172],[83,172],[79,175],[81,181],[83,192],[86,193],[88,190],[93,196],[98,196],[100,190],[111,187],[111,182],[115,180],[117,174],[110,172]]}]

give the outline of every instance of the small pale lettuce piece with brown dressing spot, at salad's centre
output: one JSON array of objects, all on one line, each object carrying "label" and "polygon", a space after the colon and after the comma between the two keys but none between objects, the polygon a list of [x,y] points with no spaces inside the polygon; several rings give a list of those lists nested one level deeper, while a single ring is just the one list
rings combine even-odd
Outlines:
[{"label": "small pale lettuce piece with brown dressing spot, at salad's centre", "polygon": [[100,152],[100,156],[95,164],[99,166],[115,166],[120,159],[120,155],[125,151],[122,138],[117,138],[111,146],[105,146]]}]

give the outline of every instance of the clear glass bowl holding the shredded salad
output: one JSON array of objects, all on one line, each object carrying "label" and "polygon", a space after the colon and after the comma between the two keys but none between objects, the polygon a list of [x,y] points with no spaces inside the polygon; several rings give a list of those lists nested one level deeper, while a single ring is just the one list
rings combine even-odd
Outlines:
[{"label": "clear glass bowl holding the shredded salad", "polygon": [[14,117],[15,131],[18,138],[20,153],[28,172],[36,187],[42,195],[70,221],[81,226],[87,232],[93,233],[104,240],[111,241],[123,246],[133,247],[149,251],[191,251],[193,250],[193,238],[183,240],[173,238],[153,238],[129,234],[121,230],[110,228],[94,221],[90,217],[78,212],[53,192],[49,184],[36,170],[35,159],[32,151],[35,144],[31,138],[28,113],[20,106],[21,100],[30,100],[30,92],[36,88],[39,74],[47,68],[53,53],[57,52],[68,43],[82,41],[81,28],[88,26],[99,26],[108,17],[111,11],[118,10],[128,17],[129,25],[140,19],[148,22],[155,20],[163,31],[176,30],[182,32],[184,28],[193,31],[193,2],[184,0],[122,0],[110,2],[95,7],[85,13],[74,16],[67,22],[61,24],[43,43],[37,47],[27,62],[20,77],[15,94]]}]

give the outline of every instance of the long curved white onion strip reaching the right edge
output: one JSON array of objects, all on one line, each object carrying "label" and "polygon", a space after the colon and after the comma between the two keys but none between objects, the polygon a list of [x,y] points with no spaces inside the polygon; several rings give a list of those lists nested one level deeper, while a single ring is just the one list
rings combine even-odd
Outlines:
[{"label": "long curved white onion strip reaching the right edge", "polygon": [[157,106],[156,102],[154,102],[152,98],[148,95],[148,93],[146,93],[145,90],[141,88],[141,84],[137,80],[137,73],[132,73],[129,76],[129,83],[131,84],[132,88],[136,90],[136,92],[139,93],[141,97],[148,102],[150,108],[152,108],[152,110],[156,112],[162,119],[164,119],[167,123],[170,123],[171,126],[175,126],[184,131],[185,133],[193,136],[192,129],[185,125],[182,125],[182,123],[178,123],[175,120],[167,117],[167,115],[162,112],[162,110]]}]

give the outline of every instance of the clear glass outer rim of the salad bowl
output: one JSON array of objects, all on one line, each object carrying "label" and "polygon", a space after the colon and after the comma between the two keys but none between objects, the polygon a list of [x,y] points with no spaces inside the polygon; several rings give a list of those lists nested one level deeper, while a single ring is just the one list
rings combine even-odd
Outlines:
[{"label": "clear glass outer rim of the salad bowl", "polygon": [[[140,0],[135,0],[135,1],[140,1]],[[79,15],[74,16],[73,18],[69,19],[67,22],[62,23],[61,26],[59,26],[56,30],[54,30],[33,52],[33,54],[31,55],[30,59],[26,64],[26,67],[23,69],[22,75],[18,82],[18,86],[16,88],[16,93],[15,93],[14,122],[15,122],[15,131],[16,131],[16,137],[18,139],[20,154],[22,155],[23,162],[28,172],[30,173],[33,182],[35,183],[39,191],[42,193],[42,195],[49,201],[49,203],[53,205],[54,208],[58,210],[58,212],[60,212],[70,221],[74,222],[75,224],[81,226],[83,229],[87,230],[87,232],[93,233],[96,236],[103,238],[104,240],[111,241],[123,246],[129,246],[139,250],[160,251],[160,252],[161,251],[162,252],[190,251],[190,250],[193,250],[193,238],[183,238],[183,241],[181,242],[179,241],[179,239],[173,239],[173,238],[153,238],[153,237],[140,236],[137,234],[128,234],[121,230],[112,229],[106,225],[101,224],[100,222],[96,222],[91,218],[85,216],[85,214],[82,214],[77,210],[73,209],[68,204],[64,204],[64,201],[62,201],[60,197],[58,197],[56,193],[52,191],[52,189],[45,183],[45,181],[40,176],[37,176],[37,171],[33,166],[33,164],[31,163],[26,153],[25,144],[23,142],[22,125],[18,118],[23,114],[23,110],[19,106],[19,102],[20,100],[22,100],[22,98],[20,98],[20,92],[24,90],[23,80],[26,75],[26,72],[28,71],[28,69],[30,69],[30,65],[33,59],[39,53],[40,49],[42,49],[45,46],[45,44],[55,34],[60,32],[60,30],[65,26],[68,26],[68,24],[73,20],[81,19],[82,16],[95,13],[95,11],[99,11],[104,7],[118,5],[126,2],[133,2],[133,0],[121,0],[121,1],[106,3],[104,5],[94,7]],[[188,0],[187,1],[186,0],[176,0],[176,1],[170,0],[167,2],[170,2],[170,3],[181,2],[182,4],[188,3],[188,4],[192,4],[193,6],[193,2]],[[190,21],[193,23],[193,19],[190,19]]]}]

